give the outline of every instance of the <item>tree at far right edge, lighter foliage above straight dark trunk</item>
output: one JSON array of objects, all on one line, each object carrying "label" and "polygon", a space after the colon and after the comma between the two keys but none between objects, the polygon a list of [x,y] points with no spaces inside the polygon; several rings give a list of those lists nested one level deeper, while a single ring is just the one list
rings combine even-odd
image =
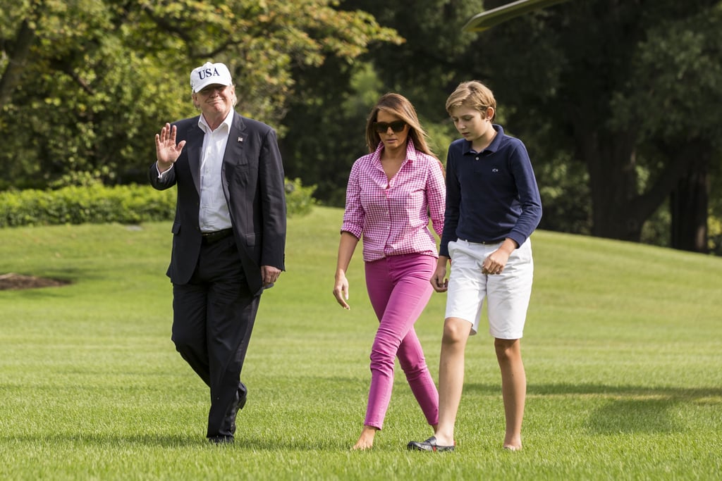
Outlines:
[{"label": "tree at far right edge, lighter foliage above straight dark trunk", "polygon": [[676,249],[708,251],[710,175],[722,152],[721,26],[719,2],[663,19],[635,54],[639,81],[614,100],[620,123],[640,125],[640,144],[654,146],[663,165],[682,167],[669,193]]}]

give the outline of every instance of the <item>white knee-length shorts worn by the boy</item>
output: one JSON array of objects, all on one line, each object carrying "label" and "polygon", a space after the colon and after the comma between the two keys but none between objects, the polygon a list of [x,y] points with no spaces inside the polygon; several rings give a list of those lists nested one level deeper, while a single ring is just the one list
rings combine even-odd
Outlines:
[{"label": "white knee-length shorts worn by the boy", "polygon": [[490,334],[498,339],[521,339],[534,278],[531,240],[526,239],[511,253],[501,274],[482,274],[484,259],[500,245],[501,242],[477,244],[462,239],[449,242],[451,273],[446,318],[471,322],[471,335],[475,335],[487,298]]}]

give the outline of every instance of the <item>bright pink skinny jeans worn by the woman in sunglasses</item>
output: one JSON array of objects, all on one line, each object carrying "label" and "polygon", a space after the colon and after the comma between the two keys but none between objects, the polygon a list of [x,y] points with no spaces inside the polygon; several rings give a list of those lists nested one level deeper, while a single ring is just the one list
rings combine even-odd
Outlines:
[{"label": "bright pink skinny jeans worn by the woman in sunglasses", "polygon": [[439,394],[414,330],[414,322],[433,291],[429,279],[435,266],[435,257],[420,254],[366,262],[366,288],[379,325],[371,348],[371,389],[365,425],[383,428],[397,356],[426,420],[430,425],[438,423]]}]

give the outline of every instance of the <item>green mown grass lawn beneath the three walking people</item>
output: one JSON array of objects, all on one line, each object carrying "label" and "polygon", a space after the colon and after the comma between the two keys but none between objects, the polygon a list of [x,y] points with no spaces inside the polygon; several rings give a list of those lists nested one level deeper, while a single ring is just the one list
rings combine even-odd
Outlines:
[{"label": "green mown grass lawn beneath the three walking people", "polygon": [[[1,480],[710,480],[722,471],[722,258],[538,231],[523,355],[524,449],[501,449],[492,339],[471,337],[455,453],[404,375],[373,450],[362,427],[377,324],[360,250],[351,311],[331,294],[342,211],[289,222],[232,446],[205,441],[204,384],[170,341],[170,223],[0,229]],[[445,295],[417,332],[437,378]]]}]

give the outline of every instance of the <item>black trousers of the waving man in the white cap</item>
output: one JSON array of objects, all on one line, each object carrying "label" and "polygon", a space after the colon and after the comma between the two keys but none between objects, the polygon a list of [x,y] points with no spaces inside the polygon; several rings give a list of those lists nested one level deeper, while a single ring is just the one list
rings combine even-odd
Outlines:
[{"label": "black trousers of the waving man in the white cap", "polygon": [[173,284],[175,348],[210,388],[209,438],[235,434],[235,407],[261,296],[245,281],[233,236],[203,245],[187,284]]}]

